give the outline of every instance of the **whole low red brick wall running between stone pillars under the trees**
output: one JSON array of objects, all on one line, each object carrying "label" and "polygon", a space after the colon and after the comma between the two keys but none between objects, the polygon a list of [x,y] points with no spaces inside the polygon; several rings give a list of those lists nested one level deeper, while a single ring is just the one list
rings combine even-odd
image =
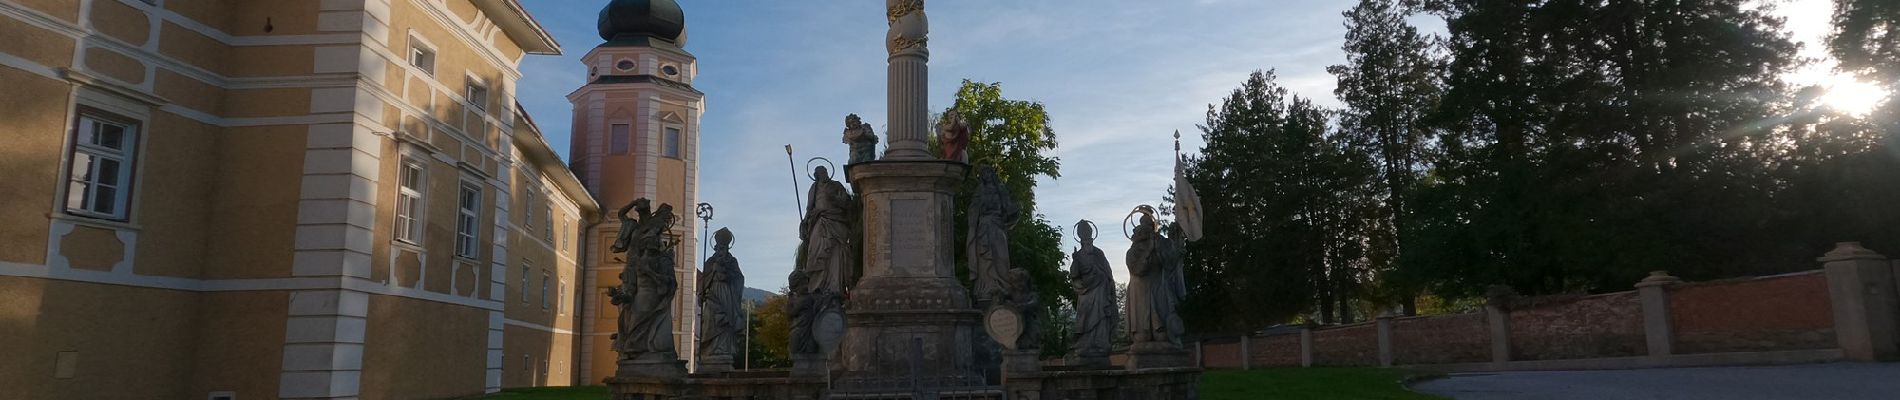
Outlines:
[{"label": "whole low red brick wall running between stone pillars under the trees", "polygon": [[[1894,267],[1900,269],[1900,262]],[[1653,301],[1661,307],[1651,311],[1666,313],[1657,315],[1653,332],[1645,326],[1644,292],[1649,300],[1661,300]],[[1203,360],[1208,368],[1239,368],[1241,355],[1246,355],[1252,368],[1284,368],[1302,366],[1302,353],[1311,351],[1311,366],[1379,366],[1379,324],[1391,328],[1395,366],[1490,364],[1495,339],[1507,343],[1510,355],[1505,356],[1510,362],[1600,360],[1638,366],[1630,364],[1630,356],[1649,355],[1649,334],[1672,334],[1666,337],[1670,353],[1657,356],[1759,353],[1735,356],[1828,360],[1826,353],[1788,351],[1849,351],[1841,345],[1847,336],[1835,330],[1852,324],[1834,320],[1834,307],[1839,307],[1834,296],[1839,294],[1830,290],[1830,275],[1818,269],[1712,282],[1672,282],[1659,275],[1645,279],[1645,288],[1630,292],[1507,300],[1497,307],[1503,311],[1507,337],[1495,336],[1490,313],[1404,317],[1311,328],[1309,343],[1302,343],[1298,328],[1254,336],[1244,347],[1231,337],[1208,339],[1203,341]],[[1866,296],[1890,294],[1872,290]],[[1662,326],[1664,320],[1668,326]],[[1887,334],[1890,332],[1872,336]]]}]

